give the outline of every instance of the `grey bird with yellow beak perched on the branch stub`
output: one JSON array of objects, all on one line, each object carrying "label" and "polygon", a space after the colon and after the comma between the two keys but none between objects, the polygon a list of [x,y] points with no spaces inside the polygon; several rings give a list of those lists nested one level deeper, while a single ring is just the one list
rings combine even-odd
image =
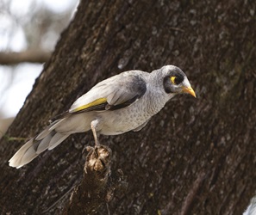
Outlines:
[{"label": "grey bird with yellow beak perched on the branch stub", "polygon": [[91,129],[95,144],[99,144],[99,134],[138,132],[167,101],[182,93],[196,97],[184,72],[174,65],[165,65],[151,73],[124,71],[109,77],[24,144],[9,160],[9,166],[21,168],[41,152],[53,150],[72,133]]}]

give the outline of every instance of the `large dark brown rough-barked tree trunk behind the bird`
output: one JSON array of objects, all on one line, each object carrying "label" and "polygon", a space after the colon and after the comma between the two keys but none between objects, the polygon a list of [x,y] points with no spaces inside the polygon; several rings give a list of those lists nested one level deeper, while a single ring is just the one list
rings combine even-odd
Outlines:
[{"label": "large dark brown rough-barked tree trunk behind the bird", "polygon": [[[97,82],[178,65],[198,99],[177,96],[140,132],[102,136],[128,189],[110,214],[241,214],[256,191],[253,1],[81,1],[0,143],[2,214],[62,212],[83,177],[76,134],[22,169],[9,158]],[[104,205],[98,214],[107,214]]]}]

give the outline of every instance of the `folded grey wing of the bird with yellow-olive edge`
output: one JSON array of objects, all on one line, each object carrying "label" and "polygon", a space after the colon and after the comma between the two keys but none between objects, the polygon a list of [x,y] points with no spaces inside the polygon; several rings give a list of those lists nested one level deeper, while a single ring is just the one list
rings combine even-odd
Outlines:
[{"label": "folded grey wing of the bird with yellow-olive edge", "polygon": [[147,75],[147,72],[142,71],[126,71],[115,77],[109,77],[79,97],[72,104],[69,113],[78,114],[127,107],[145,94],[147,83],[142,76]]}]

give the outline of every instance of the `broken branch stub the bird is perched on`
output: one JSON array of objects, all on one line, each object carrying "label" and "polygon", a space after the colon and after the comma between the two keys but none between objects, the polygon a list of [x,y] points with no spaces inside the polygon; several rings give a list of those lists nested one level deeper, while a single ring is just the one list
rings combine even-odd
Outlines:
[{"label": "broken branch stub the bird is perched on", "polygon": [[84,177],[72,192],[63,214],[97,214],[103,204],[112,199],[116,190],[125,190],[122,170],[111,172],[112,151],[104,145],[87,147]]}]

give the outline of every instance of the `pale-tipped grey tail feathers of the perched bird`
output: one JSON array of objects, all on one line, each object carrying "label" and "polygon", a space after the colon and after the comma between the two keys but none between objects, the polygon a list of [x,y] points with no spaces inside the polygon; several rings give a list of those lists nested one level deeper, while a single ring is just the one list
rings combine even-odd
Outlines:
[{"label": "pale-tipped grey tail feathers of the perched bird", "polygon": [[47,126],[43,132],[24,144],[22,148],[9,159],[9,166],[15,167],[16,169],[21,168],[31,162],[35,157],[41,154],[41,152],[47,149],[53,150],[53,148],[63,142],[69,134],[56,132],[54,130],[62,120],[65,119],[54,121],[50,126]]}]

